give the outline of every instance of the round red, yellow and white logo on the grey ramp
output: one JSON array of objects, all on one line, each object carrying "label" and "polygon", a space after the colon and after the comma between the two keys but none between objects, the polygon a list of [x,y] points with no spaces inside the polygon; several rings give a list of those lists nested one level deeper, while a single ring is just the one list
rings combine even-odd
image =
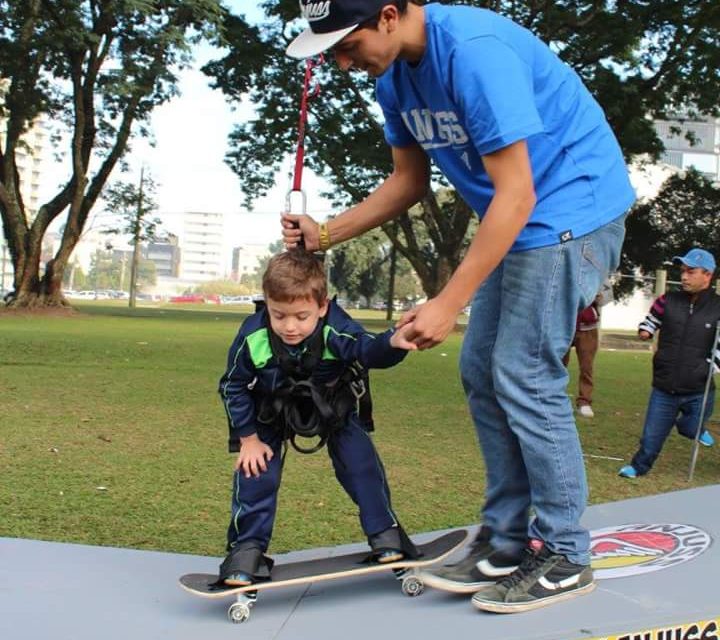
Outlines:
[{"label": "round red, yellow and white logo on the grey ramp", "polygon": [[688,524],[626,524],[590,532],[595,578],[623,578],[660,571],[704,553],[712,538]]}]

